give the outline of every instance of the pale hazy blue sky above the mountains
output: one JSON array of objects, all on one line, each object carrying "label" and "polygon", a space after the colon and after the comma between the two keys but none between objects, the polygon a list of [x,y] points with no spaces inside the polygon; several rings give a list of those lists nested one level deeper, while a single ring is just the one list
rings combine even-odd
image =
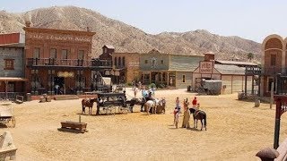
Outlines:
[{"label": "pale hazy blue sky above the mountains", "polygon": [[200,29],[259,43],[273,33],[287,36],[286,0],[3,0],[0,10],[22,13],[55,5],[89,8],[151,34]]}]

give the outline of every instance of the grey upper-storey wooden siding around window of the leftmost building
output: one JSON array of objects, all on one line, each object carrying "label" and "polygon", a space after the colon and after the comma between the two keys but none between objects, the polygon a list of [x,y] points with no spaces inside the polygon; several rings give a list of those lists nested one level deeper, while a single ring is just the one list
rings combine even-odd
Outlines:
[{"label": "grey upper-storey wooden siding around window of the leftmost building", "polygon": [[[13,59],[14,70],[4,70],[4,59]],[[24,77],[23,48],[0,47],[0,77]]]}]

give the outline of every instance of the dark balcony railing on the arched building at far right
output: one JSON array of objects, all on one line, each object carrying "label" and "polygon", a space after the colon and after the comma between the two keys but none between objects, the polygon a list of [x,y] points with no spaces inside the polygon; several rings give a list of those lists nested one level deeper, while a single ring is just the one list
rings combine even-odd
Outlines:
[{"label": "dark balcony railing on the arched building at far right", "polygon": [[246,67],[246,74],[254,74],[254,75],[269,75],[275,76],[277,73],[281,73],[282,75],[287,75],[287,68],[278,68],[278,67]]}]

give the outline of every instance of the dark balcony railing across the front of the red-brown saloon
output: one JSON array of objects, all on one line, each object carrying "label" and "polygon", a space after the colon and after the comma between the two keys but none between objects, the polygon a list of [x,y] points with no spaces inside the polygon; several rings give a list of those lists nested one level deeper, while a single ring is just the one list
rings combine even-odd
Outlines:
[{"label": "dark balcony railing across the front of the red-brown saloon", "polygon": [[27,58],[27,66],[111,67],[111,61],[92,59]]}]

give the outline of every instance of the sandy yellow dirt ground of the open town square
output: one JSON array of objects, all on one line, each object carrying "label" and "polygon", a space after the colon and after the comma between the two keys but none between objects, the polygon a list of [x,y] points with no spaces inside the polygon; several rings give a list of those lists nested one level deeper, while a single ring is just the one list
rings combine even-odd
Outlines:
[{"label": "sandy yellow dirt ground of the open town square", "polygon": [[[127,94],[132,95],[132,90],[127,89]],[[148,116],[135,106],[133,114],[82,115],[82,122],[88,123],[85,133],[57,131],[62,121],[78,121],[81,99],[12,104],[16,127],[0,132],[12,132],[17,160],[25,161],[259,160],[258,150],[273,147],[274,106],[254,107],[253,102],[237,100],[237,94],[197,96],[207,114],[207,131],[175,129],[171,113],[176,97],[191,102],[194,95],[186,89],[156,91],[156,97],[167,99],[166,114]],[[180,126],[182,118],[181,114]],[[283,114],[280,140],[286,135]]]}]

